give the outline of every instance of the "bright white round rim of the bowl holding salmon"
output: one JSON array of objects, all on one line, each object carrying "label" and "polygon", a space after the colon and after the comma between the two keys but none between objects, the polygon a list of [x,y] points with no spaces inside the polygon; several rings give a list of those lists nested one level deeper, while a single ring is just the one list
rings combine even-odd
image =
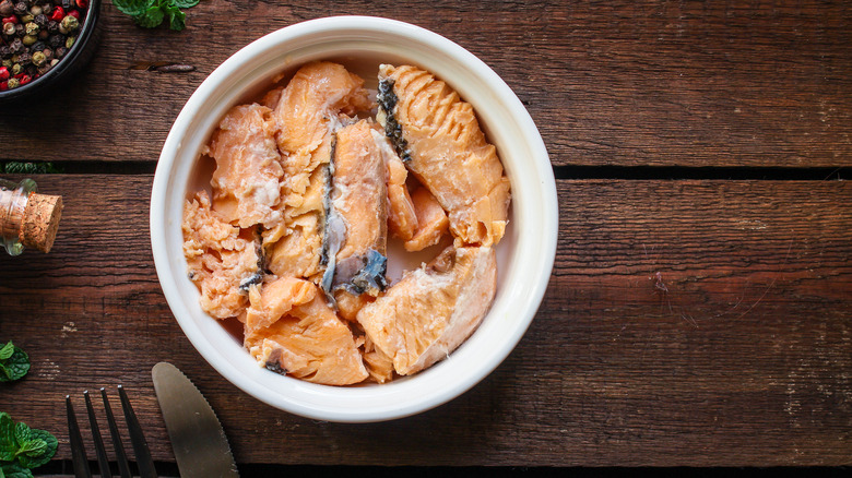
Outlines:
[{"label": "bright white round rim of the bowl holding salmon", "polygon": [[[452,380],[446,381],[446,377],[442,377],[440,371],[441,366],[446,366],[449,360],[443,360],[411,378],[395,380],[389,384],[363,387],[333,387],[307,383],[286,377],[282,378],[297,382],[287,383],[287,390],[298,395],[294,398],[294,396],[283,396],[280,393],[273,393],[268,386],[257,383],[251,372],[247,374],[246,370],[227,360],[222,360],[220,350],[204,336],[199,324],[189,319],[188,308],[193,306],[187,302],[191,299],[184,298],[178,292],[177,287],[177,276],[185,276],[185,274],[174,272],[173,267],[176,267],[178,264],[169,262],[168,237],[166,235],[168,227],[166,211],[168,204],[166,200],[168,194],[175,194],[174,191],[170,191],[171,188],[186,187],[186,183],[175,183],[173,181],[173,172],[176,168],[181,141],[190,129],[194,115],[206,100],[215,96],[216,88],[221,88],[221,84],[224,84],[229,75],[239,68],[245,67],[252,58],[263,55],[271,48],[286,46],[287,43],[298,38],[339,34],[340,32],[380,33],[382,35],[405,37],[429,48],[435,48],[442,55],[462,62],[473,74],[482,79],[490,88],[498,93],[501,104],[508,108],[517,120],[524,144],[530,147],[532,153],[529,158],[529,165],[524,164],[524,169],[529,168],[535,171],[534,178],[530,181],[533,181],[534,186],[537,187],[539,196],[535,198],[535,204],[539,207],[536,214],[541,215],[539,220],[541,224],[536,223],[536,226],[540,227],[534,232],[536,239],[535,244],[531,249],[534,249],[535,260],[541,264],[542,272],[533,279],[526,280],[517,290],[508,291],[511,292],[513,300],[522,300],[524,302],[523,316],[514,318],[516,322],[512,322],[513,326],[509,334],[493,350],[489,350],[490,355],[486,357],[485,361],[482,361],[471,370],[465,369],[462,375],[453,375]],[[198,156],[198,152],[194,155]],[[512,187],[514,188],[514,184]],[[182,203],[180,210],[182,211]],[[187,100],[169,131],[154,176],[150,215],[151,246],[161,287],[178,324],[199,354],[220,374],[261,402],[299,416],[340,422],[383,421],[415,415],[453,399],[492,373],[520,342],[541,304],[552,274],[558,236],[558,201],[549,157],[537,128],[511,88],[482,60],[437,33],[397,20],[358,15],[315,19],[283,27],[250,43],[217,67]],[[171,224],[171,227],[174,228],[175,225]],[[184,262],[182,264],[185,265],[186,263]],[[494,308],[494,304],[492,307]],[[490,314],[492,311],[488,312],[488,315]],[[486,319],[488,315],[486,315]],[[215,321],[212,318],[209,319],[210,321]],[[476,332],[473,336],[475,335]],[[463,347],[464,344],[451,354],[450,357],[452,358],[460,354]],[[470,351],[468,355],[470,354],[473,354],[473,351]],[[248,354],[245,355],[248,356]],[[253,359],[251,360],[253,361]],[[259,367],[256,368],[260,369]],[[446,370],[447,367],[442,369]],[[418,385],[418,382],[428,384],[430,389],[423,393],[424,391],[418,389],[423,389],[424,385]],[[401,399],[402,397],[411,398],[406,394],[411,395],[412,393],[417,393],[418,395],[414,396],[413,399]],[[331,395],[324,396],[323,394]],[[369,403],[371,398],[378,396],[393,402],[391,402],[392,405],[381,408],[367,407],[355,409],[352,406],[345,408],[343,406],[332,406],[324,402],[319,405],[311,402],[312,397],[320,395],[323,395],[323,399],[331,397],[341,402],[352,401],[352,403]]]}]

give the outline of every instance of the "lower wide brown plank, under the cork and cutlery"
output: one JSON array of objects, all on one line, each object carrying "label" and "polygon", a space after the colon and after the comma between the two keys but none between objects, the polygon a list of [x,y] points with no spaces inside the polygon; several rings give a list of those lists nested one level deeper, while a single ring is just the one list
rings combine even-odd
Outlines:
[{"label": "lower wide brown plank, under the cork and cutlery", "polygon": [[510,357],[431,411],[340,425],[261,404],[194,351],[153,267],[150,176],[36,179],[66,214],[52,252],[0,258],[0,340],[33,361],[0,409],[52,430],[58,458],[64,395],[80,409],[84,390],[122,383],[155,458],[174,459],[150,378],[168,360],[240,463],[852,463],[844,181],[558,181],[556,265]]}]

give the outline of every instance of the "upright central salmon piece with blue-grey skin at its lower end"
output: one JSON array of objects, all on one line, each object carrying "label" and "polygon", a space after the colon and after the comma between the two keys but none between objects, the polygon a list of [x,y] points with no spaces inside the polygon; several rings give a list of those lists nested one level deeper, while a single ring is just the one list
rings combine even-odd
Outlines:
[{"label": "upright central salmon piece with blue-grey skin at its lower end", "polygon": [[332,142],[321,282],[332,303],[339,291],[376,297],[388,285],[387,167],[372,131],[371,121],[360,120]]}]

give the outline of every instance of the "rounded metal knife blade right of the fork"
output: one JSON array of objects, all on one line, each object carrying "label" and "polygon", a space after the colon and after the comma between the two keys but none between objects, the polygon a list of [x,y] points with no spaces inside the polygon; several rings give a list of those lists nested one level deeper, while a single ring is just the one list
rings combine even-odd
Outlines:
[{"label": "rounded metal knife blade right of the fork", "polygon": [[225,430],[196,385],[168,362],[155,365],[151,377],[180,476],[238,478]]}]

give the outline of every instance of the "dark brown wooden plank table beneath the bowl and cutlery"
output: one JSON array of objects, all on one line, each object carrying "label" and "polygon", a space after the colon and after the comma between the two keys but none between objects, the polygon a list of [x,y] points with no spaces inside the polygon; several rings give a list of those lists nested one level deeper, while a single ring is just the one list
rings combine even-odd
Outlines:
[{"label": "dark brown wooden plank table beneath the bowl and cutlery", "polygon": [[[46,469],[68,469],[64,395],[81,407],[118,383],[174,469],[161,360],[201,389],[246,469],[852,464],[843,2],[206,0],[181,33],[103,12],[87,72],[0,113],[0,158],[63,170],[34,177],[66,200],[54,251],[0,258],[0,340],[33,363],[0,385],[0,410],[59,438]],[[251,40],[334,14],[407,21],[482,58],[537,123],[560,200],[517,349],[458,399],[386,423],[304,419],[226,382],[176,324],[149,242],[159,148],[189,95]],[[156,71],[170,63],[194,70]]]}]

